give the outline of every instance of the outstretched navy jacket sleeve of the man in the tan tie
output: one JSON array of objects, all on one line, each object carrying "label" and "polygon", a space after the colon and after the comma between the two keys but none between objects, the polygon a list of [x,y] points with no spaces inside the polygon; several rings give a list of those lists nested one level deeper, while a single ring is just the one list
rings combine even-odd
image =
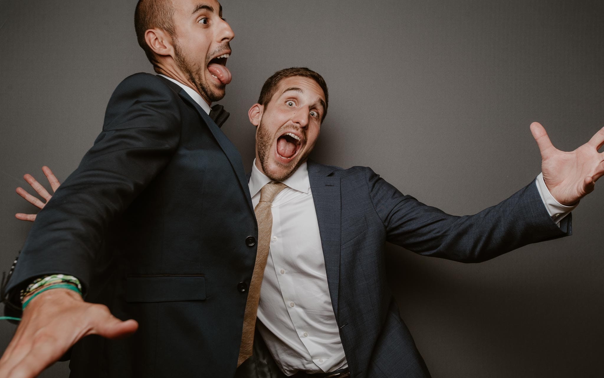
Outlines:
[{"label": "outstretched navy jacket sleeve of the man in the tan tie", "polygon": [[571,235],[571,216],[558,227],[535,180],[495,206],[457,217],[403,195],[370,168],[365,174],[387,241],[420,255],[481,262],[527,244]]}]

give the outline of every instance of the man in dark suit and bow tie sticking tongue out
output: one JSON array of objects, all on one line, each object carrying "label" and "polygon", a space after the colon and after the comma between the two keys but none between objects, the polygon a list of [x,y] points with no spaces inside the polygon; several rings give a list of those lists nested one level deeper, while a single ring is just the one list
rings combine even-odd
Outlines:
[{"label": "man in dark suit and bow tie sticking tongue out", "polygon": [[37,215],[2,287],[21,322],[0,377],[37,376],[76,342],[71,377],[235,373],[257,225],[228,113],[210,114],[234,34],[216,0],[140,0],[135,30],[158,75],[117,86]]}]

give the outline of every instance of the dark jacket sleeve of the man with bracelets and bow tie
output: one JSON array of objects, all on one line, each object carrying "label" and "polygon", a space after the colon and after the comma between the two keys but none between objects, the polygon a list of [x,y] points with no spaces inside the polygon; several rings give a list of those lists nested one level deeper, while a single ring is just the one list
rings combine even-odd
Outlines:
[{"label": "dark jacket sleeve of the man with bracelets and bow tie", "polygon": [[76,276],[86,287],[109,224],[176,151],[181,121],[175,96],[150,74],[118,85],[103,131],[37,215],[7,292],[54,273]]}]

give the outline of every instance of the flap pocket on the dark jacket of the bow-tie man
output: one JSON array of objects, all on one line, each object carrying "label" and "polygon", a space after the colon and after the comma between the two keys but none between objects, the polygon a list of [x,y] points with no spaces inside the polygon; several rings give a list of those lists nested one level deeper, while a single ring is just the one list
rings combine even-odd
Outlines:
[{"label": "flap pocket on the dark jacket of the bow-tie man", "polygon": [[204,276],[131,276],[126,278],[126,302],[203,301]]}]

